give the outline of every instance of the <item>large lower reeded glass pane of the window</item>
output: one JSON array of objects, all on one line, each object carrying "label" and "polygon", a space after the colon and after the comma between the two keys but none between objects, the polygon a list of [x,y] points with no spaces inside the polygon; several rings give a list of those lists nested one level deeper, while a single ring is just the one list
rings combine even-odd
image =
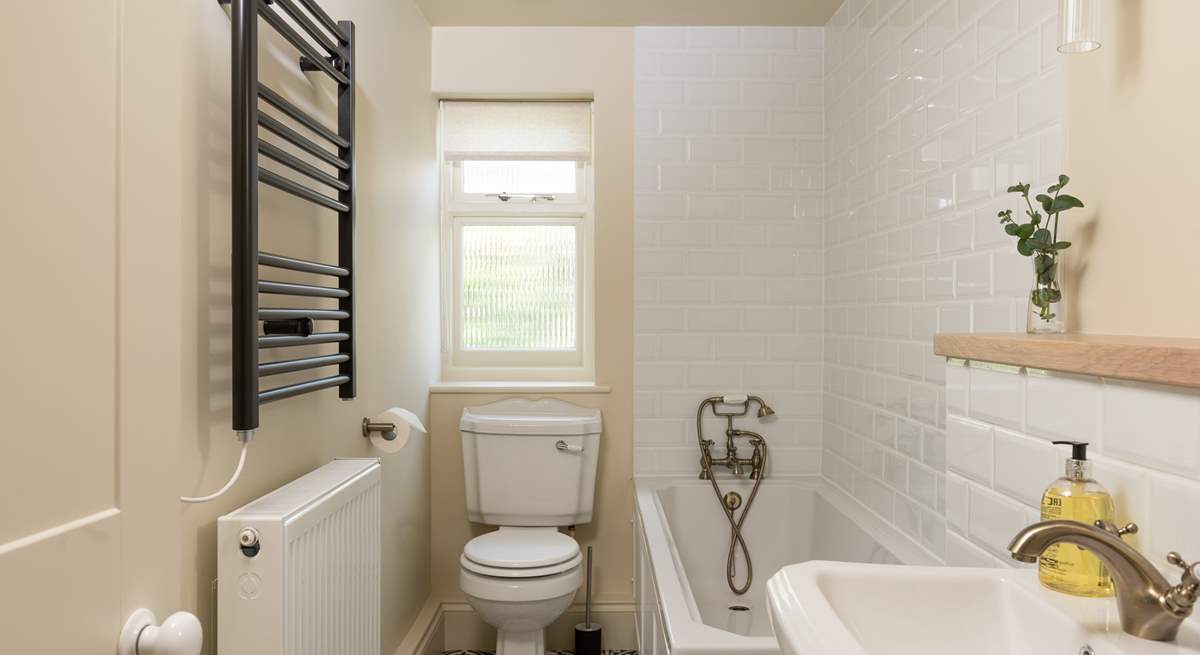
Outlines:
[{"label": "large lower reeded glass pane of the window", "polygon": [[464,226],[463,347],[574,349],[575,262],[572,226]]}]

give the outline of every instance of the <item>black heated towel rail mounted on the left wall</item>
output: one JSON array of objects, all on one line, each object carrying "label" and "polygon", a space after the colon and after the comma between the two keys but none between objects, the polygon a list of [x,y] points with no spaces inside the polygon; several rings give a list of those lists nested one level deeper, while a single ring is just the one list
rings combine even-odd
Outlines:
[{"label": "black heated towel rail mounted on the left wall", "polygon": [[[230,6],[233,23],[233,428],[245,434],[258,428],[263,403],[332,387],[342,398],[355,395],[354,23],[334,20],[314,0],[218,1]],[[337,86],[336,127],[258,79],[259,19],[295,48],[301,70]],[[275,115],[264,113],[265,107]],[[263,140],[268,134],[270,142]],[[259,156],[275,169],[262,168]],[[259,184],[336,212],[336,264],[258,250]],[[310,274],[319,283],[260,280],[259,266]],[[259,294],[336,299],[337,308],[260,307]],[[312,331],[316,320],[336,322],[337,328]],[[271,322],[271,333],[262,333],[263,322]],[[287,333],[288,325],[308,329]],[[337,344],[336,354],[259,361],[262,349],[328,343]],[[269,375],[335,366],[336,374],[259,387]]]}]

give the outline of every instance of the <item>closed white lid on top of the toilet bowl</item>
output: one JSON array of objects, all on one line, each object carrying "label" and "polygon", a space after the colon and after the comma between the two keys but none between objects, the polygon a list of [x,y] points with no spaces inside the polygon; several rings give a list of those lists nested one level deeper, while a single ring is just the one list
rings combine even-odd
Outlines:
[{"label": "closed white lid on top of the toilet bowl", "polygon": [[529,578],[568,571],[581,559],[580,545],[556,528],[503,527],[467,542],[460,561],[484,576]]}]

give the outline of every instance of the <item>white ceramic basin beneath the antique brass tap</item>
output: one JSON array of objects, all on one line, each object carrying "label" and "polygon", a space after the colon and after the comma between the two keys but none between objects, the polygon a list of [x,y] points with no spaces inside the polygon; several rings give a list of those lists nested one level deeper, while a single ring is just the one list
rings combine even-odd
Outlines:
[{"label": "white ceramic basin beneath the antique brass tap", "polygon": [[1032,570],[805,561],[767,582],[785,655],[1200,655],[1200,630],[1174,643],[1121,630],[1111,599],[1043,589]]}]

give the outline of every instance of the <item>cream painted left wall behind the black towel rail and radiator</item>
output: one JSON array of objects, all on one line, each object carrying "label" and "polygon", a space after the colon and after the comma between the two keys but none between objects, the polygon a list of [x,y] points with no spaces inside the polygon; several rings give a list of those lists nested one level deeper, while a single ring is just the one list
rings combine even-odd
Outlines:
[{"label": "cream painted left wall behind the black towel rail and radiator", "polygon": [[[217,501],[180,509],[182,608],[197,613],[210,635],[216,518],[334,457],[372,456],[359,433],[361,419],[391,405],[426,417],[427,389],[437,374],[431,30],[409,0],[323,0],[322,6],[335,18],[355,22],[360,61],[359,397],[343,402],[330,390],[265,405],[241,481]],[[186,119],[180,148],[184,288],[178,301],[185,317],[185,404],[178,479],[180,493],[200,494],[223,483],[238,452],[229,428],[229,19],[217,2],[187,7],[179,35]],[[260,35],[272,34],[262,25]],[[275,40],[260,56],[264,83],[336,125],[331,83],[299,73],[294,52]],[[263,250],[336,260],[332,214],[260,188]],[[427,439],[414,438],[404,451],[385,457],[383,479],[383,647],[390,654],[428,595]],[[215,651],[212,644],[210,639],[208,653]]]}]

